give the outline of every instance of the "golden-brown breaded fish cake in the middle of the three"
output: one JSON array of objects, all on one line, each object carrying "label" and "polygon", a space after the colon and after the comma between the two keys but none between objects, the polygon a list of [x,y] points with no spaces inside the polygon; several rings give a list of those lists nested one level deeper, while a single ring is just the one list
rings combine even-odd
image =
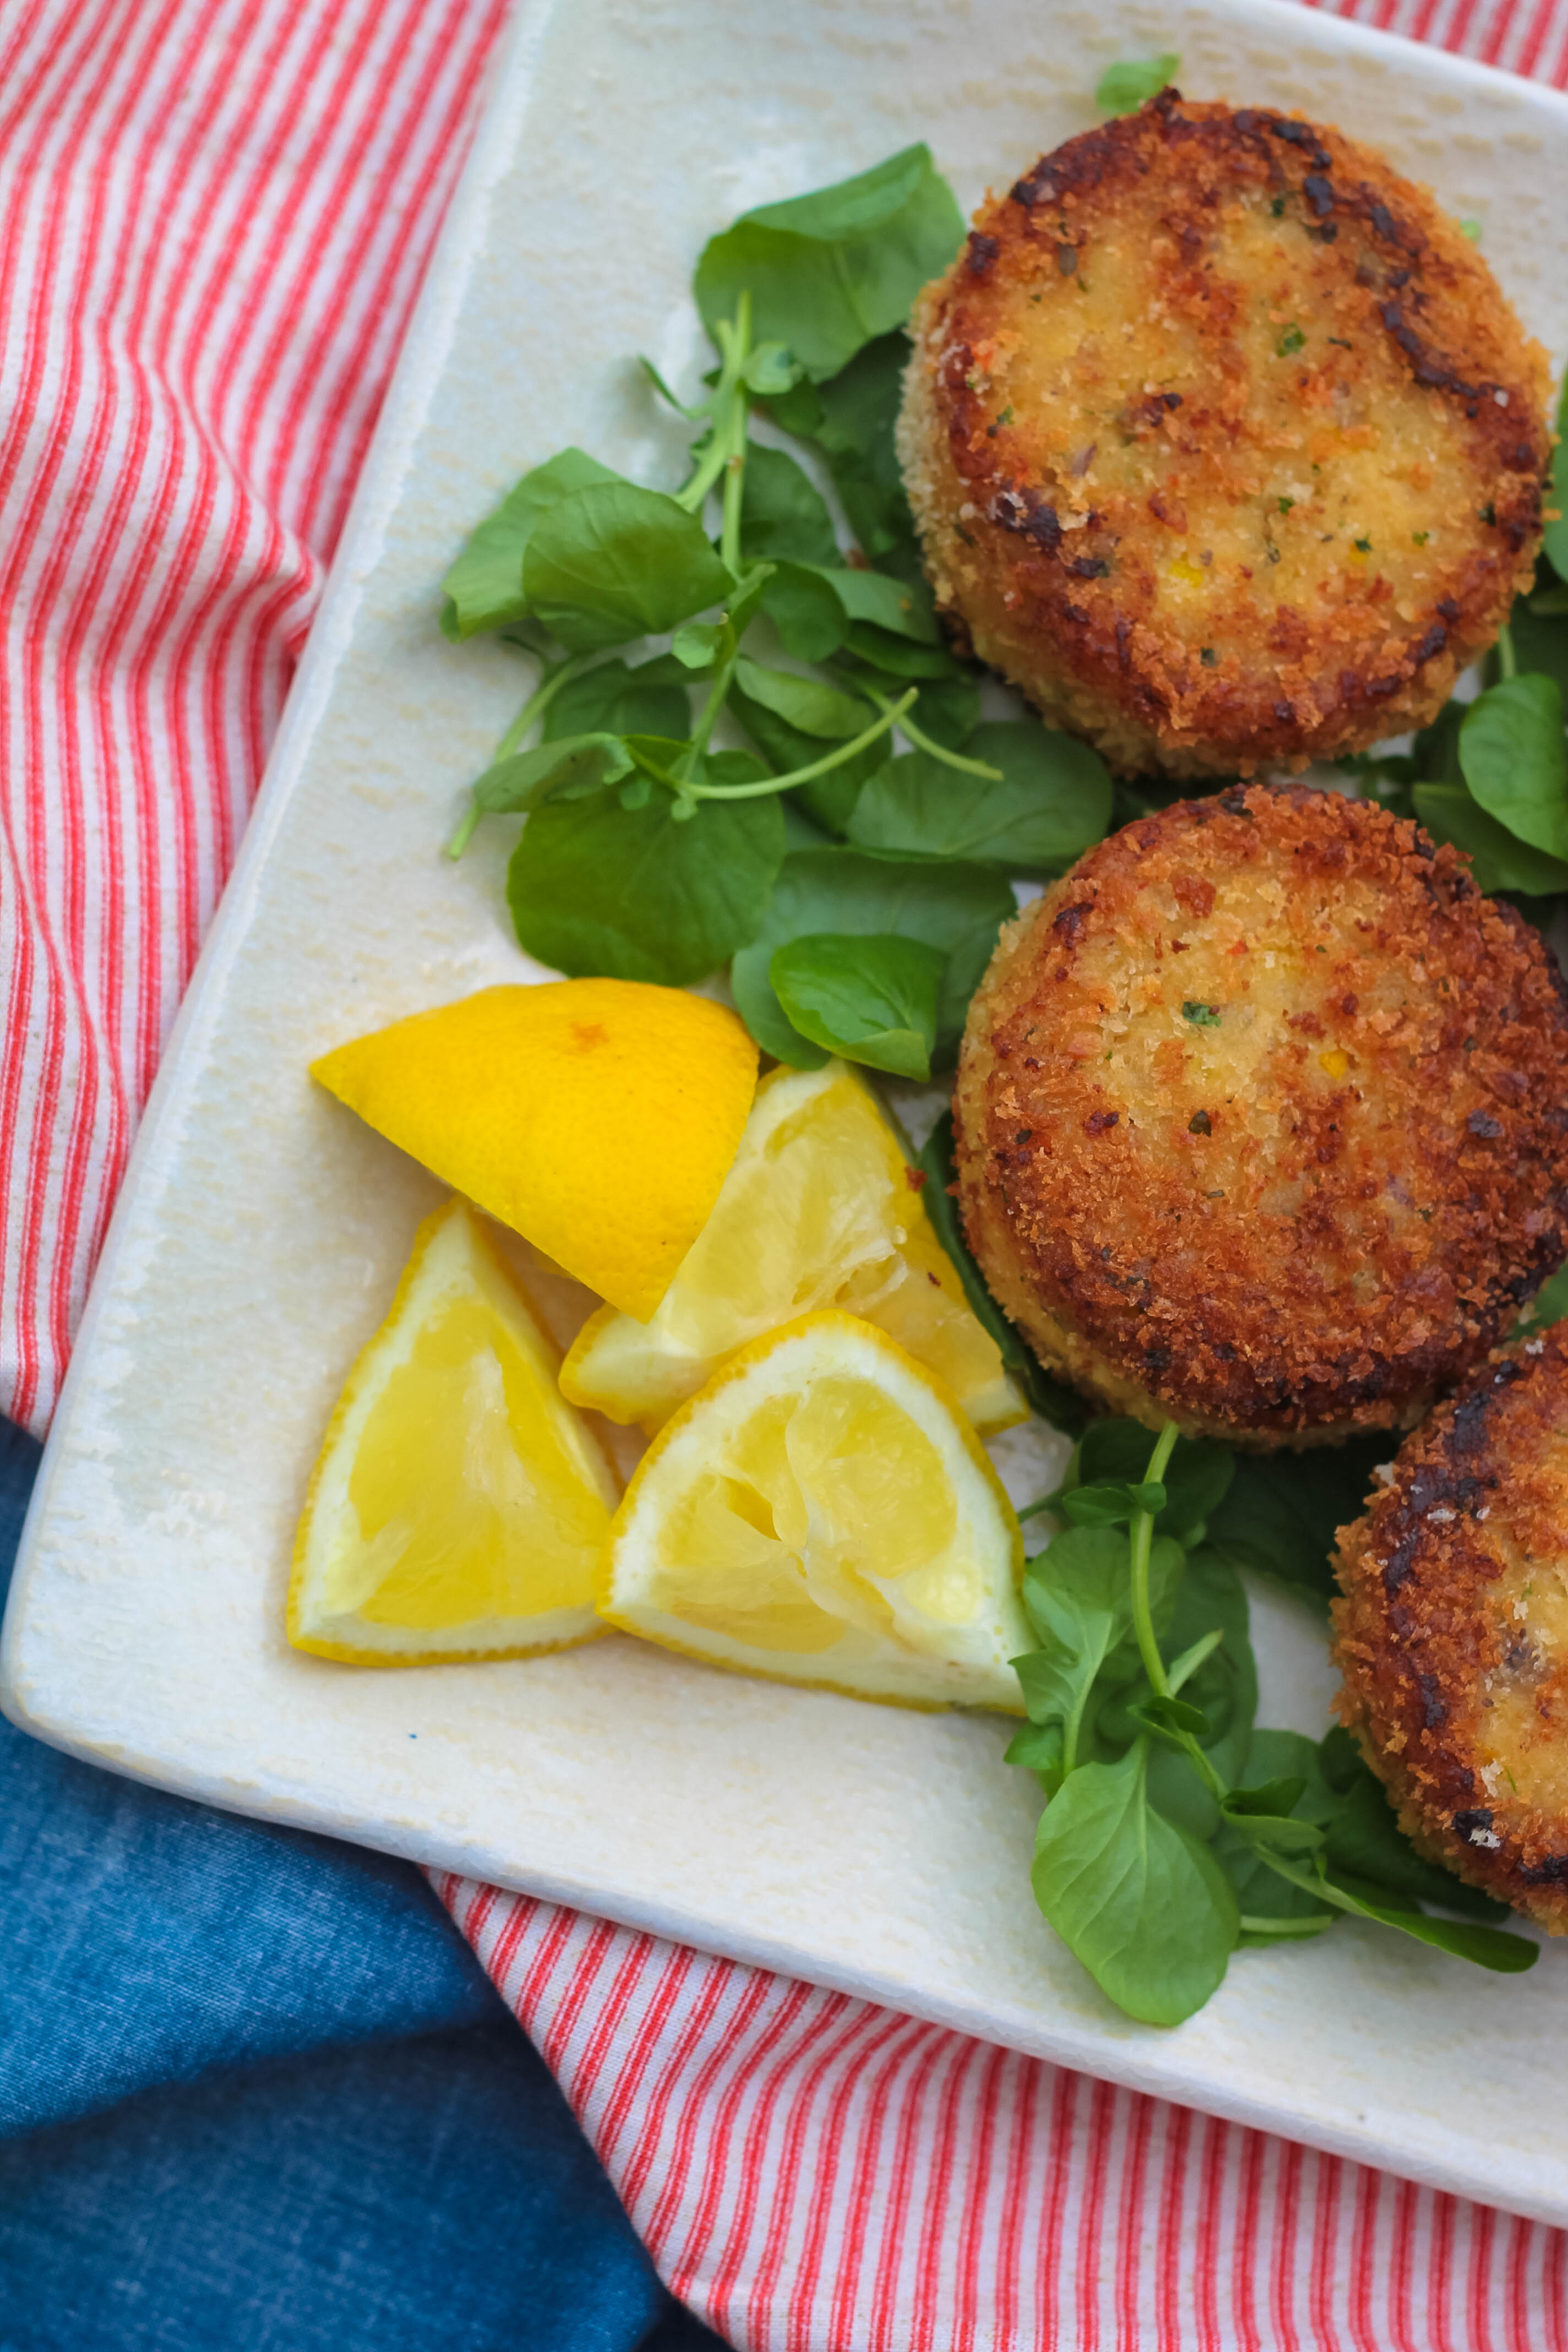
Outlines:
[{"label": "golden-brown breaded fish cake in the middle of the three", "polygon": [[1138,818],[969,1009],[969,1247],[1046,1364],[1152,1428],[1408,1428],[1568,1256],[1566,997],[1375,802],[1251,783]]}]

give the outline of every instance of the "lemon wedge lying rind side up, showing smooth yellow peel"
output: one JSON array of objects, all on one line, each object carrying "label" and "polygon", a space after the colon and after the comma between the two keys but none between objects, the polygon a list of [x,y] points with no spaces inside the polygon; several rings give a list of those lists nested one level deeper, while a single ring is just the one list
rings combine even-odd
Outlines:
[{"label": "lemon wedge lying rind side up, showing smooth yellow peel", "polygon": [[757,1047],[644,981],[482,988],[310,1075],[625,1315],[651,1315],[745,1129]]}]

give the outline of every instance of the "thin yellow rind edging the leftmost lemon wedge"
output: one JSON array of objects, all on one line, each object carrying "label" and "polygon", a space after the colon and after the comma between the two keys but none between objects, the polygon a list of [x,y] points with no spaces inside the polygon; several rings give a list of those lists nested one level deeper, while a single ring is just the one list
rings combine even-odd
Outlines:
[{"label": "thin yellow rind edging the leftmost lemon wedge", "polygon": [[[430,1249],[454,1218],[465,1218],[470,1223],[473,1244],[484,1254],[484,1258],[498,1275],[505,1291],[517,1296],[541,1352],[545,1355],[555,1352],[543,1329],[543,1322],[538,1319],[538,1315],[534,1315],[531,1303],[522,1291],[522,1284],[517,1282],[510,1265],[505,1265],[501,1254],[484,1235],[484,1228],[473,1216],[468,1202],[463,1202],[461,1197],[442,1202],[442,1207],[435,1209],[421,1223],[414,1237],[414,1249],[409,1251],[409,1261],[397,1279],[397,1291],[393,1294],[393,1303],[381,1324],[376,1327],[376,1331],[371,1331],[364,1348],[360,1348],[360,1355],[355,1357],[348,1371],[339,1402],[331,1409],[331,1418],[327,1421],[327,1432],[322,1437],[322,1446],[315,1456],[310,1479],[306,1486],[306,1503],[299,1515],[299,1529],[294,1536],[284,1632],[292,1649],[306,1651],[313,1658],[331,1658],[339,1665],[376,1665],[376,1668],[468,1665],[487,1658],[543,1658],[557,1649],[581,1649],[585,1642],[599,1642],[607,1630],[604,1621],[597,1616],[592,1604],[585,1604],[581,1609],[552,1609],[545,1611],[541,1618],[520,1618],[517,1621],[520,1625],[531,1628],[529,1639],[501,1642],[501,1644],[489,1642],[489,1644],[440,1644],[440,1646],[402,1649],[388,1639],[364,1642],[364,1644],[343,1639],[322,1639],[320,1635],[308,1632],[303,1625],[306,1585],[313,1571],[313,1536],[315,1536],[315,1517],[322,1496],[322,1484],[327,1479],[329,1468],[339,1458],[339,1446],[343,1442],[343,1432],[348,1430],[350,1421],[355,1416],[369,1418],[369,1406],[374,1404],[386,1381],[388,1334],[404,1329],[409,1315],[409,1301],[425,1270]],[[604,1446],[599,1444],[599,1439],[590,1428],[583,1428],[578,1435],[583,1439],[588,1461],[602,1472],[604,1503],[614,1515],[616,1489],[621,1484],[614,1463],[609,1461]],[[386,1635],[386,1628],[381,1628],[381,1632]]]}]

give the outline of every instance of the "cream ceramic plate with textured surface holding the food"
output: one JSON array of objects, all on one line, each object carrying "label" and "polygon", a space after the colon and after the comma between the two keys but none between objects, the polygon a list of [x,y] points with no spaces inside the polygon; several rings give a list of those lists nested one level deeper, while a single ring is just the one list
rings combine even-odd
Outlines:
[{"label": "cream ceramic plate with textured surface holding the food", "polygon": [[[355,1672],[282,1642],[322,1423],[435,1185],[313,1054],[517,978],[508,826],[437,856],[520,701],[435,635],[465,522],[562,442],[672,480],[630,355],[693,381],[703,238],[929,139],[969,207],[1093,120],[1112,56],[1375,139],[1568,341],[1568,106],[1215,0],[538,0],[381,419],[240,870],[181,1014],[49,1442],[5,1705],[75,1755],[870,1994],[1568,2223],[1568,1952],[1493,1978],[1375,1929],[1244,1952],[1178,2032],[1117,2016],[1027,1886],[1006,1729],[741,1682],[607,1639]],[[1018,1465],[1037,1494],[1039,1468]],[[1262,1719],[1319,1731],[1321,1637],[1258,1604]]]}]

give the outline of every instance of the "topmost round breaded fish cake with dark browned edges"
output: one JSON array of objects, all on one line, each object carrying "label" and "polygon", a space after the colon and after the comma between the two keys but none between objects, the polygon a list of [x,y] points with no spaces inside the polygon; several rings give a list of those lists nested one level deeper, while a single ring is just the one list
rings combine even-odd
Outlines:
[{"label": "topmost round breaded fish cake with dark browned edges", "polygon": [[1422,727],[1530,586],[1547,355],[1333,129],[1166,89],[990,198],[914,336],[938,604],[1121,769]]}]

